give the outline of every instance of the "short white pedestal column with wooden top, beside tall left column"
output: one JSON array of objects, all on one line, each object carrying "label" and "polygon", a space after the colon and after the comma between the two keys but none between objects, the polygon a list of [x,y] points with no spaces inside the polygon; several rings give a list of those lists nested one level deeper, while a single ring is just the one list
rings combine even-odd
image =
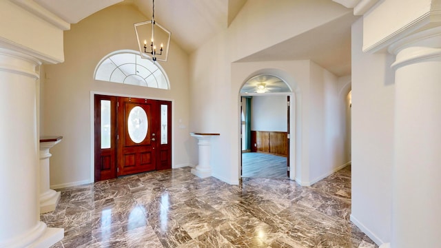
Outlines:
[{"label": "short white pedestal column with wooden top, beside tall left column", "polygon": [[60,200],[61,192],[50,189],[49,149],[61,142],[63,137],[40,139],[40,214],[54,211]]}]

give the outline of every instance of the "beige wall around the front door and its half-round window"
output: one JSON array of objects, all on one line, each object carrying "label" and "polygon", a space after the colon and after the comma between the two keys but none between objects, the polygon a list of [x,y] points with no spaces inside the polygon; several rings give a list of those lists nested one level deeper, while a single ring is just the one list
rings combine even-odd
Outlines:
[{"label": "beige wall around the front door and its half-round window", "polygon": [[96,64],[110,52],[137,50],[133,24],[147,20],[132,6],[106,8],[72,25],[65,32],[65,62],[45,65],[42,87],[44,135],[62,135],[51,149],[50,183],[65,187],[93,180],[91,175],[91,92],[166,99],[174,102],[174,166],[188,165],[189,140],[188,56],[172,43],[169,61],[159,62],[171,90],[95,81]]}]

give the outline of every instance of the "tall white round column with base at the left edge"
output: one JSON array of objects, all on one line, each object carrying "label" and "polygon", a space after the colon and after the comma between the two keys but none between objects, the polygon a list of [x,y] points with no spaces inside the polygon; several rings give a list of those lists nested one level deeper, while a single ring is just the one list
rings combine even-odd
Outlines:
[{"label": "tall white round column with base at the left edge", "polygon": [[39,65],[0,48],[0,247],[49,247],[63,238],[63,229],[39,221]]}]

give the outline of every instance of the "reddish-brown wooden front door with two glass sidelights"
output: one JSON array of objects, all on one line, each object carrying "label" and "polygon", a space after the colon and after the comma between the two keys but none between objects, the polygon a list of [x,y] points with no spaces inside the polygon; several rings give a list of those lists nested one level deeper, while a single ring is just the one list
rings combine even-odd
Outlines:
[{"label": "reddish-brown wooden front door with two glass sidelights", "polygon": [[172,167],[172,103],[94,95],[94,180]]}]

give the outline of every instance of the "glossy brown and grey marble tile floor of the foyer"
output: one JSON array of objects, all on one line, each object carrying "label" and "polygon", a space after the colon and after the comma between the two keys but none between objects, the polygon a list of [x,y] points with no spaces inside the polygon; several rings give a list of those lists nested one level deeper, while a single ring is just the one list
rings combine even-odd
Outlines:
[{"label": "glossy brown and grey marble tile floor of the foyer", "polygon": [[349,221],[350,167],[312,187],[289,179],[228,185],[190,167],[61,189],[41,215],[52,247],[377,247]]}]

